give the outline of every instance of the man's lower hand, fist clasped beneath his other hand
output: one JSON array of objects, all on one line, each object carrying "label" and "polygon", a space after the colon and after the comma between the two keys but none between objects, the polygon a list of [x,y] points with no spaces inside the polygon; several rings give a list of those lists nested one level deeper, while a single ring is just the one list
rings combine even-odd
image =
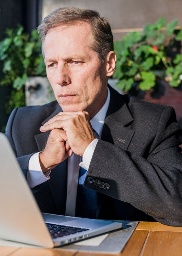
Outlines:
[{"label": "man's lower hand, fist clasped beneath his other hand", "polygon": [[39,162],[43,173],[53,169],[68,156],[71,156],[72,153],[66,132],[60,129],[51,130],[46,147],[39,154]]}]

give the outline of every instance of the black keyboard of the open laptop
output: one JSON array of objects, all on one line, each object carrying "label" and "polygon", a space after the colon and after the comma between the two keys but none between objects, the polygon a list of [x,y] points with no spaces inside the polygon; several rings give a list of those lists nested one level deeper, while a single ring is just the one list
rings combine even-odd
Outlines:
[{"label": "black keyboard of the open laptop", "polygon": [[59,238],[62,236],[68,236],[70,234],[79,233],[89,229],[83,229],[80,227],[70,227],[65,225],[55,225],[51,223],[46,223],[46,226],[50,232],[52,238]]}]

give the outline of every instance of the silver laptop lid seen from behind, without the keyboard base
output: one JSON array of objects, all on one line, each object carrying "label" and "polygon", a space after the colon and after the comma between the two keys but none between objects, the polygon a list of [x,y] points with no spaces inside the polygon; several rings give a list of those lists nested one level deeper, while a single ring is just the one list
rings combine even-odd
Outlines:
[{"label": "silver laptop lid seen from behind, without the keyboard base", "polygon": [[0,238],[53,247],[9,141],[0,133]]}]

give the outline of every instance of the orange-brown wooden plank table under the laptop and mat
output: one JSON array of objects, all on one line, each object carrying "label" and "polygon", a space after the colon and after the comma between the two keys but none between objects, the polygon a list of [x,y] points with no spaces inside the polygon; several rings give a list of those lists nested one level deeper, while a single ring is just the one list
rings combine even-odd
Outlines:
[{"label": "orange-brown wooden plank table under the laptop and mat", "polygon": [[[106,254],[0,247],[0,256],[103,256]],[[169,227],[158,222],[140,222],[120,254],[108,256],[182,256],[182,227]]]}]

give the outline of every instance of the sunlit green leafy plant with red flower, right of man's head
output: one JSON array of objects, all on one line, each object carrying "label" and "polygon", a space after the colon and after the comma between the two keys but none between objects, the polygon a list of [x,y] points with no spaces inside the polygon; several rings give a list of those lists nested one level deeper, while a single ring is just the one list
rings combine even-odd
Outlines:
[{"label": "sunlit green leafy plant with red flower, right of man's head", "polygon": [[[160,18],[153,25],[146,25],[143,32],[131,32],[114,44],[117,56],[113,78],[123,91],[149,90],[156,85],[156,79],[166,79],[172,87],[181,83],[182,54],[171,55],[177,41],[182,40],[182,28],[176,29],[177,20],[166,24]],[[164,29],[166,27],[166,29]]]}]

